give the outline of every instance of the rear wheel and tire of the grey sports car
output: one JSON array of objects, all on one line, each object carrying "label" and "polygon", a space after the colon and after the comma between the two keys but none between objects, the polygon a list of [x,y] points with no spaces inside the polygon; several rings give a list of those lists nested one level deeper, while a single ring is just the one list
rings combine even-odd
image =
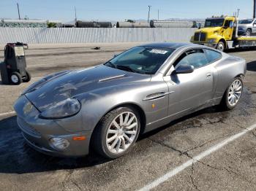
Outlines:
[{"label": "rear wheel and tire of the grey sports car", "polygon": [[[235,84],[236,82],[237,82],[237,85],[240,84],[241,87],[238,86],[237,88],[233,88],[233,87],[236,87],[236,84]],[[241,95],[243,93],[243,88],[244,88],[244,83],[241,77],[236,77],[235,79],[233,79],[233,82],[231,82],[230,85],[227,87],[227,90],[225,91],[225,94],[222,97],[222,101],[219,104],[221,109],[230,110],[235,108],[238,102],[240,101]],[[234,97],[231,95],[233,95]],[[232,101],[230,100],[230,97],[235,98],[236,101],[232,103]]]}]

